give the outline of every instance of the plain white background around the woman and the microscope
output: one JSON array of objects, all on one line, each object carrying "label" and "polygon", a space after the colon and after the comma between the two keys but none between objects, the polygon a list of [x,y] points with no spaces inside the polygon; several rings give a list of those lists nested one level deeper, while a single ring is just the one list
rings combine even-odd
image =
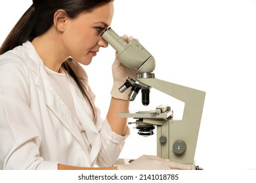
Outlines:
[{"label": "plain white background around the woman and the microscope", "polygon": [[[0,5],[0,44],[32,1]],[[156,78],[206,92],[196,148],[204,169],[255,169],[256,1],[116,0],[112,28],[133,35],[156,58]],[[85,67],[102,118],[112,87],[114,49],[102,49]],[[170,105],[181,118],[182,105],[152,90],[150,106]],[[140,95],[131,109],[146,108]],[[131,119],[133,121],[133,119]],[[156,137],[132,129],[120,158],[156,154]]]}]

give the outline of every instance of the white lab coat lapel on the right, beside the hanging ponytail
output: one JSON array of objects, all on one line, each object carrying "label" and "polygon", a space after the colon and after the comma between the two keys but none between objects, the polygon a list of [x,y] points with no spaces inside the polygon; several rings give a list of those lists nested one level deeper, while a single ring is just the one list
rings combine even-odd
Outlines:
[{"label": "white lab coat lapel on the right, beside the hanging ponytail", "polygon": [[100,135],[96,129],[95,123],[93,122],[93,120],[91,120],[91,109],[89,108],[89,105],[87,105],[87,103],[85,102],[85,99],[81,92],[76,92],[74,86],[72,86],[71,84],[70,91],[74,99],[74,105],[75,110],[77,111],[78,119],[85,129],[87,139],[91,145],[91,152],[89,152],[89,154],[91,158],[91,165],[93,165],[95,163],[96,156],[98,156],[98,152],[100,151]]}]

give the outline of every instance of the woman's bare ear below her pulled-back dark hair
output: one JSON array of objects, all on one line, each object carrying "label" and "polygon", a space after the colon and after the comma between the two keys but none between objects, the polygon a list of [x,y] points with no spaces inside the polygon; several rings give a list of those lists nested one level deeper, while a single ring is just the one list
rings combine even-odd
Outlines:
[{"label": "woman's bare ear below her pulled-back dark hair", "polygon": [[53,24],[55,25],[58,31],[65,31],[68,23],[68,14],[65,10],[56,10],[53,16]]}]

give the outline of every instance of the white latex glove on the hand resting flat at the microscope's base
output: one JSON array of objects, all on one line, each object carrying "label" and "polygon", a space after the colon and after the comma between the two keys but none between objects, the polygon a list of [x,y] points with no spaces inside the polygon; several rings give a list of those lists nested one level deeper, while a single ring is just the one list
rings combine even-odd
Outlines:
[{"label": "white latex glove on the hand resting flat at the microscope's base", "polygon": [[190,165],[167,161],[158,156],[143,155],[135,159],[129,165],[118,165],[118,170],[191,170]]}]

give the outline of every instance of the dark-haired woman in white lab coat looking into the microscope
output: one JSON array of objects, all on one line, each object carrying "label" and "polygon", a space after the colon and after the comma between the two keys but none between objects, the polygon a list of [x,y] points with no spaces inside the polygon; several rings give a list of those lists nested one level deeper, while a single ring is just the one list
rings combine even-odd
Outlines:
[{"label": "dark-haired woman in white lab coat looking into the microscope", "polygon": [[113,14],[112,0],[34,0],[14,26],[0,50],[0,169],[190,169],[156,156],[112,167],[129,135],[116,91],[135,71],[114,61],[102,120],[80,64],[108,46]]}]

